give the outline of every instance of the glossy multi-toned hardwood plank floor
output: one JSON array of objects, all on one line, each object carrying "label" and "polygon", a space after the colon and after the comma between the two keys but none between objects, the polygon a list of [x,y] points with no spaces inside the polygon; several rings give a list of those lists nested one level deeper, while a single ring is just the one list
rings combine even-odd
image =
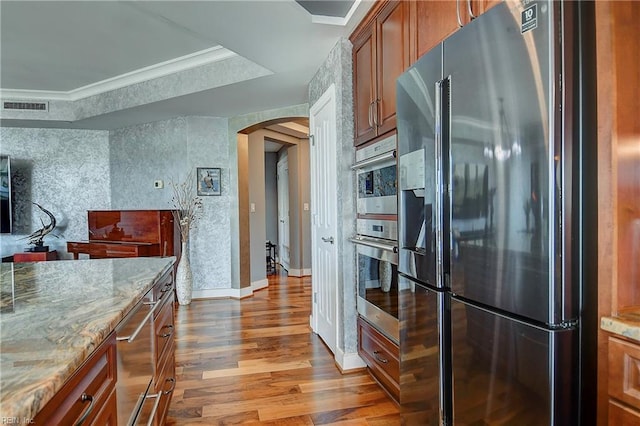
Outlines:
[{"label": "glossy multi-toned hardwood plank floor", "polygon": [[270,275],[243,300],[176,312],[177,385],[167,425],[399,425],[365,370],[341,374],[309,327],[311,279]]}]

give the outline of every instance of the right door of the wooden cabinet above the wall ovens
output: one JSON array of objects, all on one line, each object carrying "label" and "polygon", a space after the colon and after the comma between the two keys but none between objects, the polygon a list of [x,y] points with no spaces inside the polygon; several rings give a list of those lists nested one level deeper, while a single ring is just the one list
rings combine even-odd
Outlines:
[{"label": "right door of the wooden cabinet above the wall ovens", "polygon": [[376,20],[378,135],[396,128],[396,79],[409,66],[409,5],[389,2]]}]

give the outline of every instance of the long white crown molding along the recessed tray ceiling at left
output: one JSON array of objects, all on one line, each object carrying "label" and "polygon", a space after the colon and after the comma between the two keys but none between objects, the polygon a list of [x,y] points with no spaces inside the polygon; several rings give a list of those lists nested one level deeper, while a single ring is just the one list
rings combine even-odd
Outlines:
[{"label": "long white crown molding along the recessed tray ceiling at left", "polygon": [[2,100],[77,101],[88,98],[89,96],[122,89],[123,87],[131,86],[133,84],[142,83],[144,81],[175,74],[180,71],[186,71],[191,68],[229,59],[234,56],[237,56],[237,54],[222,46],[215,46],[189,55],[180,56],[178,58],[140,68],[106,80],[98,81],[96,83],[88,84],[77,89],[69,90],[68,92],[52,90],[0,89],[0,98],[2,98]]}]

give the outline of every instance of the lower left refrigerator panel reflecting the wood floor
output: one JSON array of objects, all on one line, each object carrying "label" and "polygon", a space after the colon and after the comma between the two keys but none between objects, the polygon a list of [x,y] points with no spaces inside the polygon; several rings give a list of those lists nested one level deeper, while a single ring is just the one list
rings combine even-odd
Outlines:
[{"label": "lower left refrigerator panel reflecting the wood floor", "polygon": [[444,293],[398,278],[400,303],[400,414],[403,425],[443,421],[440,374]]}]

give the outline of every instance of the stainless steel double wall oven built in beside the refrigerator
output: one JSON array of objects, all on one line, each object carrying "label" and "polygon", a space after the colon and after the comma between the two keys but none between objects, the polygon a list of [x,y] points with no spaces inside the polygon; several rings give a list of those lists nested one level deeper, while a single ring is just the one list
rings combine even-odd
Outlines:
[{"label": "stainless steel double wall oven built in beside the refrigerator", "polygon": [[358,313],[398,343],[396,135],[356,151]]}]

